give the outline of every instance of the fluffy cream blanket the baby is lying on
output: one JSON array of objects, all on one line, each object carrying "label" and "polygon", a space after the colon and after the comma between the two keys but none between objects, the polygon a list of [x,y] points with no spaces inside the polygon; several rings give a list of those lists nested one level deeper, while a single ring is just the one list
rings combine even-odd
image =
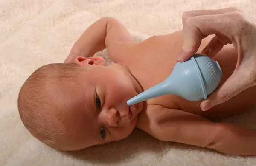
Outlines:
[{"label": "fluffy cream blanket the baby is lying on", "polygon": [[[238,6],[256,16],[255,0],[0,0],[0,166],[254,166],[254,157],[221,155],[165,143],[135,130],[125,140],[58,152],[35,140],[17,112],[17,94],[38,67],[63,62],[81,33],[116,17],[135,39],[180,30],[186,10]],[[103,53],[102,56],[105,57]],[[255,97],[255,96],[251,96]],[[256,129],[256,111],[227,119]],[[240,145],[237,145],[240,146]]]}]

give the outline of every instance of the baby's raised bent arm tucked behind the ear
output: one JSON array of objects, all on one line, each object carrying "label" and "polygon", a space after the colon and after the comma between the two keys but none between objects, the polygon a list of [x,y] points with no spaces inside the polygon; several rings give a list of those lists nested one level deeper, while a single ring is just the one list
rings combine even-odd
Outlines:
[{"label": "baby's raised bent arm tucked behind the ear", "polygon": [[122,23],[112,17],[103,17],[84,31],[71,48],[64,63],[73,63],[76,56],[91,57],[119,42],[132,41],[131,35]]}]

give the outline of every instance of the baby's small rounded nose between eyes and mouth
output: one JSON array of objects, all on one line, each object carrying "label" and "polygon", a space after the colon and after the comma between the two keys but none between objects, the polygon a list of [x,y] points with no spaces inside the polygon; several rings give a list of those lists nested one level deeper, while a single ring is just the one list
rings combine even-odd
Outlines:
[{"label": "baby's small rounded nose between eyes and mouth", "polygon": [[119,112],[111,108],[105,112],[105,121],[109,126],[116,127],[119,124]]}]

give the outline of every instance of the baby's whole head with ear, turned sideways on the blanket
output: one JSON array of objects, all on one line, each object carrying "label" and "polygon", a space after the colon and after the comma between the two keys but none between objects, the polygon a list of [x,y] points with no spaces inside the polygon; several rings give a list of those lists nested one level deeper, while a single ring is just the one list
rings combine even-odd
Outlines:
[{"label": "baby's whole head with ear, turned sideways on the blanket", "polygon": [[118,141],[135,127],[143,105],[126,101],[140,86],[123,65],[101,57],[38,68],[20,89],[18,110],[29,132],[55,149],[73,151]]}]

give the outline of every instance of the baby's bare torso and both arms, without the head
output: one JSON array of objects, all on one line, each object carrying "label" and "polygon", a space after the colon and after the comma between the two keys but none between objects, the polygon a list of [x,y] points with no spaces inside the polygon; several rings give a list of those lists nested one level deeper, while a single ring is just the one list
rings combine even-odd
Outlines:
[{"label": "baby's bare torso and both arms, without the head", "polygon": [[[92,38],[95,40],[92,41]],[[201,53],[211,39],[212,36],[203,39],[197,52]],[[150,37],[143,42],[133,41],[121,23],[106,17],[82,34],[65,63],[75,61],[81,65],[82,60],[78,56],[85,57],[85,61],[107,48],[113,62],[127,67],[143,91],[162,82],[172,73],[182,45],[182,31]],[[225,45],[212,58],[221,66],[223,84],[236,68],[236,50],[233,45]],[[86,63],[89,64],[88,59]],[[186,101],[175,95],[153,98],[135,104],[139,113],[136,127],[162,141],[197,145],[233,155],[256,155],[256,131],[211,121],[248,110],[256,104],[256,98],[251,97],[255,94],[256,86],[250,87],[206,112],[200,108],[201,101]]]}]

